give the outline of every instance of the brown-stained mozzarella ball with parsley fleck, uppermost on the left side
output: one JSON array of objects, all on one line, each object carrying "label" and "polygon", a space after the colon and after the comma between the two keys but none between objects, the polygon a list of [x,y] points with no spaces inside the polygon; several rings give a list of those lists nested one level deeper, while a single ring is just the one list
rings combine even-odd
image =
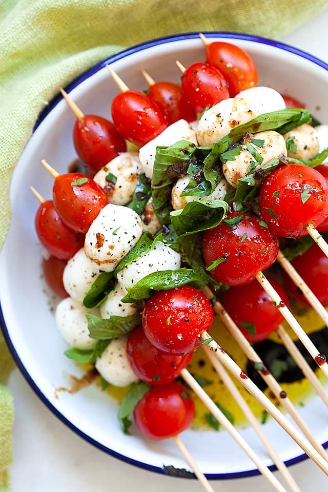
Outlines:
[{"label": "brown-stained mozzarella ball with parsley fleck, uppermost on the left side", "polygon": [[[132,200],[140,171],[138,153],[123,152],[100,169],[93,179],[104,189],[110,203],[126,205]],[[115,184],[106,180],[109,173],[116,177]]]}]

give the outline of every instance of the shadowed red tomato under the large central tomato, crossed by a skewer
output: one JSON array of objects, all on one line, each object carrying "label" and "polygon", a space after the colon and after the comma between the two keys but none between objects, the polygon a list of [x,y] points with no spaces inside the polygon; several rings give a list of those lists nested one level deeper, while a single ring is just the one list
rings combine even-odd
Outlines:
[{"label": "shadowed red tomato under the large central tomato, crossed by a skewer", "polygon": [[[272,279],[270,283],[288,306],[288,296],[281,285]],[[257,280],[232,287],[221,295],[221,302],[250,342],[264,340],[283,321],[282,314]]]}]

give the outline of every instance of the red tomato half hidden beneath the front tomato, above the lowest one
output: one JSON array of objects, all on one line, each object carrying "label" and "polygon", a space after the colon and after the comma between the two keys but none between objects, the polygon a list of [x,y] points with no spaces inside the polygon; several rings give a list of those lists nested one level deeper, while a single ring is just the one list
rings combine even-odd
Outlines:
[{"label": "red tomato half hidden beneath the front tomato, above the lowest one", "polygon": [[153,386],[174,381],[193,357],[192,353],[181,356],[158,350],[146,338],[142,326],[130,333],[127,354],[133,372],[141,381]]}]

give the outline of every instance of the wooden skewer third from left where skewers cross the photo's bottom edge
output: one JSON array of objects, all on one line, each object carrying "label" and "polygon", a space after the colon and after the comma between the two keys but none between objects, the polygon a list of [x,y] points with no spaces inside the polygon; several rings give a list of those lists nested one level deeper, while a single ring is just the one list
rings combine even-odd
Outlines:
[{"label": "wooden skewer third from left where skewers cross the photo's bottom edge", "polygon": [[262,426],[260,425],[257,418],[253,414],[251,408],[249,407],[249,405],[247,404],[247,402],[245,401],[245,399],[243,398],[243,396],[239,392],[237,386],[235,385],[235,383],[233,382],[233,380],[231,379],[231,377],[229,376],[227,371],[224,369],[221,362],[219,362],[214,357],[213,353],[211,352],[211,350],[206,345],[202,345],[202,348],[203,348],[204,352],[206,353],[206,355],[208,356],[208,358],[210,359],[213,367],[215,368],[215,371],[220,376],[223,384],[229,389],[229,392],[231,393],[231,395],[235,399],[235,401],[238,404],[239,408],[241,409],[242,413],[247,418],[247,420],[250,422],[250,424],[254,428],[256,434],[258,435],[258,437],[260,438],[260,440],[264,444],[264,446],[267,449],[268,454],[271,457],[273,463],[276,465],[276,467],[280,471],[285,482],[289,485],[290,490],[292,492],[300,492],[300,489],[299,489],[297,483],[295,482],[294,478],[290,474],[288,468],[286,467],[284,462],[279,458],[279,456],[276,453],[270,440],[268,439],[268,437],[263,432]]}]

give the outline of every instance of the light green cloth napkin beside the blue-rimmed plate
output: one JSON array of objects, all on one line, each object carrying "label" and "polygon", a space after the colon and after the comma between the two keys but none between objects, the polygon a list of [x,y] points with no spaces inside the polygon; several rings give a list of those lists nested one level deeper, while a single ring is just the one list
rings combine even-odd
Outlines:
[{"label": "light green cloth napkin beside the blue-rimmed plate", "polygon": [[[147,39],[211,30],[277,38],[326,5],[327,0],[0,0],[0,248],[10,224],[13,168],[59,85]],[[9,366],[0,340],[0,383]],[[9,487],[12,421],[11,396],[0,386],[0,492]]]}]

